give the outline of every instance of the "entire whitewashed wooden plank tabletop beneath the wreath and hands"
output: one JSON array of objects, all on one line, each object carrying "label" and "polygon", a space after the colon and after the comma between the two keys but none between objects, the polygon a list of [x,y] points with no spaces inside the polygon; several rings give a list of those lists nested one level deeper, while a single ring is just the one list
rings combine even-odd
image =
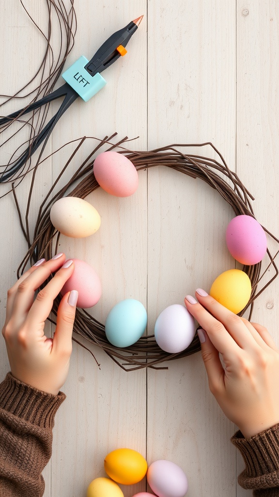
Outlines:
[{"label": "entire whitewashed wooden plank tabletop beneath the wreath and hands", "polygon": [[[45,6],[36,12],[41,26]],[[83,135],[102,139],[115,131],[119,139],[139,136],[128,144],[138,150],[211,141],[254,194],[256,217],[278,237],[277,1],[225,0],[220,6],[217,0],[104,0],[92,6],[83,0],[75,9],[78,30],[65,67],[80,55],[90,58],[131,19],[144,18],[128,54],[104,73],[105,88],[87,104],[78,100],[72,105],[56,126],[47,152]],[[44,44],[14,0],[2,1],[0,23],[0,93],[11,93],[34,73]],[[6,112],[17,107],[12,102]],[[86,141],[68,174],[92,143]],[[31,224],[69,150],[55,154],[39,170]],[[207,147],[203,155],[209,154]],[[102,217],[99,232],[86,241],[62,237],[61,249],[99,272],[103,298],[92,310],[97,319],[104,322],[116,302],[134,297],[146,305],[152,333],[162,309],[183,304],[186,293],[198,286],[208,290],[217,274],[233,267],[224,243],[233,213],[209,186],[177,171],[158,167],[141,171],[139,179],[131,198],[116,199],[101,191],[90,195]],[[28,187],[27,180],[18,189],[22,210]],[[5,292],[16,278],[26,243],[12,197],[0,204],[3,321]],[[253,315],[275,339],[278,293],[276,281],[256,301]],[[53,456],[44,471],[46,497],[85,495],[89,482],[104,475],[106,453],[125,445],[146,454],[148,463],[167,458],[183,467],[190,497],[252,495],[237,484],[243,463],[241,458],[236,463],[229,441],[235,427],[209,394],[200,354],[173,361],[168,370],[126,373],[101,350],[89,347],[100,369],[74,344],[64,388],[67,401],[56,417]],[[3,377],[8,370],[3,340],[0,354]],[[144,489],[142,482],[123,491],[132,497]]]}]

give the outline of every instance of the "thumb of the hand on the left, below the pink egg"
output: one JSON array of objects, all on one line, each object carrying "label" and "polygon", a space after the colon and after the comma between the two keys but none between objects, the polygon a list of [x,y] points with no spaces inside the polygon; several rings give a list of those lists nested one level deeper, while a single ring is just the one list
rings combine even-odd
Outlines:
[{"label": "thumb of the hand on the left, below the pink egg", "polygon": [[56,331],[53,338],[53,347],[59,353],[68,353],[72,350],[71,335],[75,318],[78,292],[72,290],[64,295],[57,311]]}]

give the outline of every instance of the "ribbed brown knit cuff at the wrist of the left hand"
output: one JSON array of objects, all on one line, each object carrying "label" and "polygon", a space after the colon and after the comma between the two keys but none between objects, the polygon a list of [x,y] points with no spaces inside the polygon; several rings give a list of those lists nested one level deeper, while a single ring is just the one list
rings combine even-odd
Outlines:
[{"label": "ribbed brown knit cuff at the wrist of the left hand", "polygon": [[0,409],[41,427],[52,428],[66,395],[48,394],[25,385],[8,373],[0,383]]}]

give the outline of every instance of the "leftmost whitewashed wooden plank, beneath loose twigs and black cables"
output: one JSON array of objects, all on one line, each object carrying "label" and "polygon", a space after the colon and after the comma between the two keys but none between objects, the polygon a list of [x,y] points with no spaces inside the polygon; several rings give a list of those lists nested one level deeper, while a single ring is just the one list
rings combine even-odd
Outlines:
[{"label": "leftmost whitewashed wooden plank, beneath loose twigs and black cables", "polygon": [[[28,5],[27,5],[28,6]],[[29,5],[30,6],[30,5]],[[47,5],[35,5],[31,9],[32,15],[39,26],[46,28]],[[39,69],[41,60],[46,50],[46,42],[42,35],[31,23],[30,19],[24,12],[20,2],[3,1],[1,3],[0,15],[0,32],[1,48],[0,60],[1,67],[1,89],[0,94],[12,95],[21,87],[29,82]],[[44,32],[46,32],[44,30]],[[29,91],[35,89],[39,84],[39,77],[34,80],[34,84]],[[24,90],[21,95],[26,95],[28,90]],[[1,98],[2,103],[6,99]],[[14,99],[0,108],[0,115],[9,114],[29,102],[30,99]],[[25,140],[27,139],[26,135]],[[6,164],[7,158],[14,153],[17,147],[23,142],[23,136],[15,137],[8,142],[0,152],[0,164]],[[7,135],[5,135],[5,138]],[[2,137],[1,137],[2,138]],[[2,141],[1,141],[2,143]],[[51,142],[46,146],[46,156],[51,153]],[[2,170],[2,169],[1,169]],[[26,181],[21,183],[18,188],[18,202],[23,216],[27,204],[28,192],[31,182],[31,174]],[[34,191],[34,205],[39,205],[50,189],[52,184],[51,161],[47,160],[43,169],[37,172],[37,182]],[[0,196],[10,189],[10,184],[0,185]],[[12,195],[9,194],[0,199],[0,254],[1,254],[1,286],[0,286],[0,321],[1,328],[4,323],[6,291],[16,281],[17,268],[24,257],[28,247],[22,235],[19,219],[13,201]],[[34,222],[37,216],[37,210],[30,211],[30,229],[34,229]],[[47,325],[47,332],[51,332],[51,327]],[[1,336],[0,345],[0,368],[1,378],[4,378],[9,365],[4,346],[4,340]],[[44,470],[46,482],[46,495],[51,495],[51,466],[48,465]]]}]

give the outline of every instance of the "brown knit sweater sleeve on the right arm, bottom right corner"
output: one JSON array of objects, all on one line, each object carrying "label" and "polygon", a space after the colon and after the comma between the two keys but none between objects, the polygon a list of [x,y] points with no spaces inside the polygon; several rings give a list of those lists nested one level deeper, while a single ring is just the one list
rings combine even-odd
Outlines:
[{"label": "brown knit sweater sleeve on the right arm, bottom right corner", "polygon": [[255,497],[279,497],[279,424],[251,438],[237,431],[231,441],[245,463],[239,485],[253,489]]}]

